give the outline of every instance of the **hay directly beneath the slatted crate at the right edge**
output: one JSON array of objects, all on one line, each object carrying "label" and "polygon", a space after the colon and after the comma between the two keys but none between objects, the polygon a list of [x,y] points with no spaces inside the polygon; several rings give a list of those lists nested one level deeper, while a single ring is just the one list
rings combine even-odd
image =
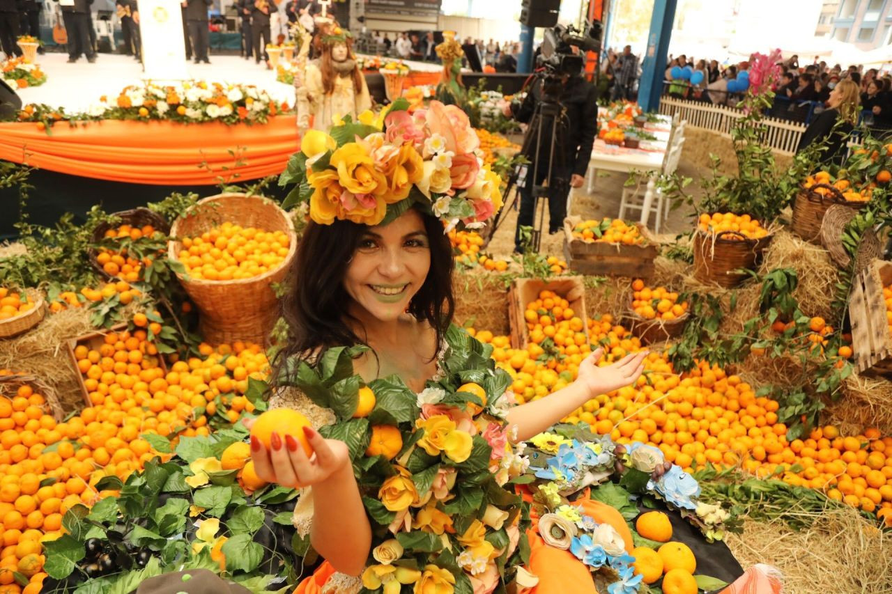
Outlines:
[{"label": "hay directly beneath the slatted crate at the right edge", "polygon": [[877,427],[883,435],[892,435],[892,382],[850,375],[842,389],[842,399],[826,409],[828,419],[841,425],[840,431],[857,435],[864,427]]}]

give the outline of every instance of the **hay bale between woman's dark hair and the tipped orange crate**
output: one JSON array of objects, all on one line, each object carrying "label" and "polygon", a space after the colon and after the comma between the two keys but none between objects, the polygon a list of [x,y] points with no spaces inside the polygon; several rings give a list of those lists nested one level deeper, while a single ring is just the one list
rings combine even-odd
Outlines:
[{"label": "hay bale between woman's dark hair and the tipped orange crate", "polygon": [[490,330],[497,336],[511,334],[508,286],[501,276],[479,270],[457,272],[452,284],[456,323]]}]

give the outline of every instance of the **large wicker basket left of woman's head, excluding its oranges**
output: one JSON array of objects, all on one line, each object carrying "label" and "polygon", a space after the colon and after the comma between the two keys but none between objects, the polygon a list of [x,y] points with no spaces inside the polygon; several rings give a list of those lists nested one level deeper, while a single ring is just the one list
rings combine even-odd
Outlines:
[{"label": "large wicker basket left of woman's head, excluding its oranges", "polygon": [[279,316],[272,284],[285,279],[297,249],[292,219],[268,198],[245,194],[210,196],[170,227],[173,239],[168,243],[169,258],[178,259],[182,248],[178,238],[201,235],[224,221],[284,232],[290,241],[288,255],[277,268],[260,276],[228,281],[179,276],[180,283],[201,312],[200,331],[205,341],[219,344],[244,340],[266,344]]}]

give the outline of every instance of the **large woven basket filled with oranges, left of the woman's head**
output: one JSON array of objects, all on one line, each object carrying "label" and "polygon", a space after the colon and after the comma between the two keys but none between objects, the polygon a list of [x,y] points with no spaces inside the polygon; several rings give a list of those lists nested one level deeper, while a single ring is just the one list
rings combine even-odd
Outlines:
[{"label": "large woven basket filled with oranges, left of the woman's head", "polygon": [[292,219],[261,196],[219,194],[199,201],[170,227],[170,260],[201,312],[211,343],[265,343],[278,318],[273,283],[285,279],[297,248]]}]

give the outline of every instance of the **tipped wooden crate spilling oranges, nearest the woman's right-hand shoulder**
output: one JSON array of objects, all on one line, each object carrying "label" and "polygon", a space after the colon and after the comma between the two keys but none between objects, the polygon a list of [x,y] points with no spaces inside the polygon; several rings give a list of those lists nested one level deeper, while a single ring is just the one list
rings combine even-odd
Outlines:
[{"label": "tipped wooden crate spilling oranges, nearest the woman's right-hand shoulder", "polygon": [[[538,301],[541,307],[536,306]],[[564,335],[581,333],[588,340],[582,276],[516,278],[508,289],[508,308],[512,348],[525,349],[537,330],[553,338],[560,328]]]}]

